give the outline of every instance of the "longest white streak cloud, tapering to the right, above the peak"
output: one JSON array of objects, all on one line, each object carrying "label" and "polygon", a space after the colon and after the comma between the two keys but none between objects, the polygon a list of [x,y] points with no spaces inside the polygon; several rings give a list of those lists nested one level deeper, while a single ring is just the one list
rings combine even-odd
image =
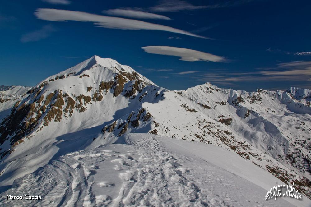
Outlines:
[{"label": "longest white streak cloud, tapering to the right, above the peak", "polygon": [[60,9],[37,9],[35,16],[38,19],[48,21],[82,21],[93,22],[97,27],[104,27],[109,29],[121,29],[121,30],[160,30],[173,32],[178,34],[184,34],[193,37],[199,37],[209,39],[207,37],[199,36],[184,30],[175,29],[173,27],[153,24],[140,20],[125,19],[120,17],[102,16],[97,14],[90,14],[81,11],[69,11]]}]

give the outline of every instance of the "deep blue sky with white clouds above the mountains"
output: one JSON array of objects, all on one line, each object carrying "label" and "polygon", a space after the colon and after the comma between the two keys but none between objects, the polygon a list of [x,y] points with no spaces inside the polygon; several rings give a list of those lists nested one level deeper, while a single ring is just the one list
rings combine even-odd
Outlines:
[{"label": "deep blue sky with white clouds above the mountains", "polygon": [[1,1],[0,85],[98,55],[157,85],[311,88],[310,1]]}]

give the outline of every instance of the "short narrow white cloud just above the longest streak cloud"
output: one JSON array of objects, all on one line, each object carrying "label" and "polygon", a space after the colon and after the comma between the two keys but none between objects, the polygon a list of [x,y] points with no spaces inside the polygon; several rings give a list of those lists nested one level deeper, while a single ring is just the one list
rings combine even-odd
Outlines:
[{"label": "short narrow white cloud just above the longest streak cloud", "polygon": [[112,16],[125,16],[134,19],[163,19],[163,20],[171,20],[167,16],[152,14],[144,11],[136,11],[131,9],[109,9],[107,11],[103,11],[103,13],[112,15]]}]

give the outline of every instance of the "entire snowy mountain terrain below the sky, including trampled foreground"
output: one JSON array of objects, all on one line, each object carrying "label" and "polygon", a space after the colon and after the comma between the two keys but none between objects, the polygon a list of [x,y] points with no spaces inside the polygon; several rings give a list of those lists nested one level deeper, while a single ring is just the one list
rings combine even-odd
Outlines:
[{"label": "entire snowy mountain terrain below the sky, including trampled foreground", "polygon": [[[0,86],[7,206],[310,206],[311,90],[157,86],[93,56]],[[276,184],[302,201],[265,200]],[[6,195],[41,200],[7,200]]]}]

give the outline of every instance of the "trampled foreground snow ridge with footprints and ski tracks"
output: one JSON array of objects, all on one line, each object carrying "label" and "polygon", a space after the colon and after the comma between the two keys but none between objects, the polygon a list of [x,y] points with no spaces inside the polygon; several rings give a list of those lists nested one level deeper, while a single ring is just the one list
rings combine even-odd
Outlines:
[{"label": "trampled foreground snow ridge with footprints and ski tracks", "polygon": [[[0,195],[0,203],[4,206],[292,206],[283,199],[265,201],[265,189],[198,157],[169,152],[161,139],[138,136],[128,139],[127,145],[103,145],[66,154],[14,181],[13,188]],[[41,195],[42,200],[4,199],[6,194],[25,193]]]}]

